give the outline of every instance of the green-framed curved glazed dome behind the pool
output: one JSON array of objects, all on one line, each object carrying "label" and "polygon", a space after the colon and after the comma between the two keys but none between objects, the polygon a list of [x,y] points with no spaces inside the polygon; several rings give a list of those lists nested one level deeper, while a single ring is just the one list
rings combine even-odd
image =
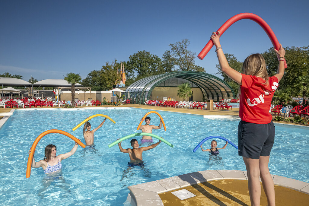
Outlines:
[{"label": "green-framed curved glazed dome behind the pool", "polygon": [[[165,84],[165,82],[167,82]],[[205,99],[235,99],[235,92],[229,84],[222,79],[203,72],[179,71],[167,74],[157,74],[142,78],[134,82],[125,90],[125,99],[131,99],[131,103],[143,104],[150,99],[150,94],[156,86],[180,86],[189,82],[191,87],[198,87]],[[164,83],[164,85],[162,85]],[[128,98],[129,94],[129,98]],[[175,94],[176,96],[176,94]]]}]

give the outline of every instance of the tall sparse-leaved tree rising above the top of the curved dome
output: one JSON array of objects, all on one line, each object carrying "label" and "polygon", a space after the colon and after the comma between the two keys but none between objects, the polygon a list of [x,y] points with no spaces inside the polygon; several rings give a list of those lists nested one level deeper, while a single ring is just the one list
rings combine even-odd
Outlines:
[{"label": "tall sparse-leaved tree rising above the top of the curved dome", "polygon": [[169,44],[171,48],[171,56],[174,58],[175,65],[179,67],[179,71],[205,72],[203,67],[195,65],[196,53],[188,49],[189,44],[190,41],[188,39]]}]

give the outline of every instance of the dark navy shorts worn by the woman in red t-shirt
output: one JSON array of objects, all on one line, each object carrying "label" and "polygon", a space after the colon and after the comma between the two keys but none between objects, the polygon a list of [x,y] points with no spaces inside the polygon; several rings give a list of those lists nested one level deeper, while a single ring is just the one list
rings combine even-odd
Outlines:
[{"label": "dark navy shorts worn by the woman in red t-shirt", "polygon": [[238,155],[251,159],[269,156],[275,141],[273,121],[255,124],[240,120],[238,124]]}]

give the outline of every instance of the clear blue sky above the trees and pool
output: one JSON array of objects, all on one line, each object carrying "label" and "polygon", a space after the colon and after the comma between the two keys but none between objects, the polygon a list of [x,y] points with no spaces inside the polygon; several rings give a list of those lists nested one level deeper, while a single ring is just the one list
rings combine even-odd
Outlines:
[{"label": "clear blue sky above the trees and pool", "polygon": [[[308,1],[0,1],[0,73],[21,74],[28,81],[82,78],[106,61],[128,61],[146,50],[162,57],[168,44],[189,39],[199,53],[232,16],[250,12],[273,29],[283,46],[309,45]],[[272,47],[252,20],[234,23],[222,35],[225,53],[243,61]],[[217,72],[214,48],[196,64]]]}]

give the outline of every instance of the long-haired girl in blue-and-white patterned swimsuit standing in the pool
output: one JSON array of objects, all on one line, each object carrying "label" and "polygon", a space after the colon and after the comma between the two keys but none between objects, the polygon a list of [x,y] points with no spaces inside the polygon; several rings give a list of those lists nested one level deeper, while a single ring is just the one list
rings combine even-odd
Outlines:
[{"label": "long-haired girl in blue-and-white patterned swimsuit standing in the pool", "polygon": [[[40,160],[39,162],[36,162],[34,160],[34,155],[32,159],[31,167],[39,168],[42,167],[44,170],[44,173],[52,173],[58,170],[61,170],[62,164],[61,161],[72,156],[76,150],[77,150],[78,144],[75,142],[74,147],[71,149],[70,152],[65,154],[59,154],[56,155],[57,147],[55,145],[47,145],[45,147],[45,156],[44,159]],[[30,154],[31,150],[29,150]]]}]

